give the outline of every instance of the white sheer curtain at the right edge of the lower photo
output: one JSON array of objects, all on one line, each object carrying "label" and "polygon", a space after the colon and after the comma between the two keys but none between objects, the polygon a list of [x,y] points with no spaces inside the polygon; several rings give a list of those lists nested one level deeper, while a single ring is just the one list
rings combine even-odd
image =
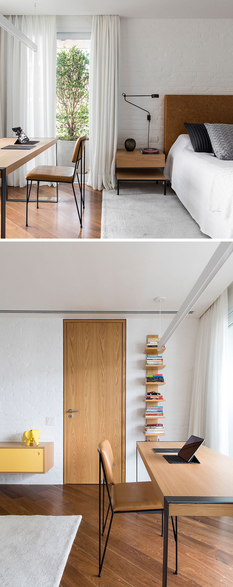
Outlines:
[{"label": "white sheer curtain at the right edge of the lower photo", "polygon": [[228,454],[227,289],[201,316],[193,366],[189,436]]}]

